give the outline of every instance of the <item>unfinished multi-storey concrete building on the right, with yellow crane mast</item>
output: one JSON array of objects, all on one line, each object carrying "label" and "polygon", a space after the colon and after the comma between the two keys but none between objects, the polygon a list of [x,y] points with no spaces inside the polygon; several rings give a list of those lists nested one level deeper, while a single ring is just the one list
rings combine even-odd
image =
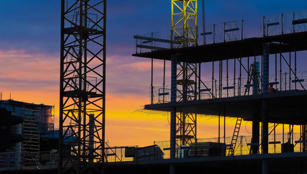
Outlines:
[{"label": "unfinished multi-storey concrete building on the right, with yellow crane mast", "polygon": [[[260,17],[260,37],[247,38],[245,20],[197,26],[196,3],[172,0],[168,38],[134,36],[134,56],[164,61],[144,109],[170,112],[165,173],[306,173],[307,11]],[[200,115],[237,118],[233,136],[225,137],[224,120],[224,136],[219,122],[217,139],[197,139]],[[242,120],[252,122],[248,140],[239,136]]]}]

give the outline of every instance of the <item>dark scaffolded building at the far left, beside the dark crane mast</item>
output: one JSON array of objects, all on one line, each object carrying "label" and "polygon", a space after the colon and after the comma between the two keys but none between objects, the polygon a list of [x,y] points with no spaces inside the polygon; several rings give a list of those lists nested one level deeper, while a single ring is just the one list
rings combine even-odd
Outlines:
[{"label": "dark scaffolded building at the far left, beside the dark crane mast", "polygon": [[[52,153],[57,153],[58,149],[58,136],[54,133],[54,106],[8,99],[0,100],[0,108],[9,111],[11,117],[21,118],[20,123],[12,125],[9,138],[16,137],[13,135],[22,137],[21,141],[12,141],[12,145],[0,152],[0,171],[36,169],[50,162]],[[3,118],[7,116],[1,112],[0,117],[1,126],[6,126]],[[2,145],[8,142],[7,139],[1,141]],[[56,158],[53,160],[57,161]]]}]

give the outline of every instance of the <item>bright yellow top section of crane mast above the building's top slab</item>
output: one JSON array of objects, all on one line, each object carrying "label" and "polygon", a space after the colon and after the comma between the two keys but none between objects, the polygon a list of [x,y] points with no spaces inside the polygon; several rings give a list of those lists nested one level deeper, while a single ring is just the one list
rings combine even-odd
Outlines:
[{"label": "bright yellow top section of crane mast above the building's top slab", "polygon": [[172,38],[180,47],[197,44],[197,0],[172,0]]}]

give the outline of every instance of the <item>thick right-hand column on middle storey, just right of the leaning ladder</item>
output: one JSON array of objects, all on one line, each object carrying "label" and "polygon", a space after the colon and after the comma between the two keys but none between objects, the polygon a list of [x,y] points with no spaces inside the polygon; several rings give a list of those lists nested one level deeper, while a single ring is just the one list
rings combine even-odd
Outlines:
[{"label": "thick right-hand column on middle storey, just right of the leaning ladder", "polygon": [[263,94],[269,93],[269,48],[270,48],[270,43],[263,44],[263,62],[262,62]]}]

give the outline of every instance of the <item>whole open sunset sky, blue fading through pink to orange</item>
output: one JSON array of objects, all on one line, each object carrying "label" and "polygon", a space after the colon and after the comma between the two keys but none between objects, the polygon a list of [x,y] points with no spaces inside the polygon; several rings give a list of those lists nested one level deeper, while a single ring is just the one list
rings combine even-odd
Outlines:
[{"label": "whole open sunset sky, blue fading through pink to orange", "polygon": [[[248,37],[259,36],[259,17],[302,10],[307,10],[306,0],[205,0],[206,24],[247,19]],[[107,1],[106,140],[111,146],[169,140],[167,116],[134,112],[150,101],[150,60],[132,54],[133,35],[170,28],[171,0]],[[157,61],[155,68],[163,64]],[[59,81],[60,0],[0,0],[2,99],[11,94],[14,100],[54,105],[58,127]],[[154,85],[162,86],[162,81]],[[226,136],[232,136],[234,119],[227,123]],[[241,130],[248,135],[247,125],[247,131]],[[217,137],[216,119],[198,119],[197,132],[198,138]]]}]

